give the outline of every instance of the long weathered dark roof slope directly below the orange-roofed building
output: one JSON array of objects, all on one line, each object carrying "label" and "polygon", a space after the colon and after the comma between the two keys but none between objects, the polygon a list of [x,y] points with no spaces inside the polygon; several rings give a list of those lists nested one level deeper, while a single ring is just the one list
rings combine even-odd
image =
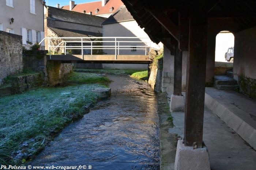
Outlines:
[{"label": "long weathered dark roof slope directly below the orange-roofed building", "polygon": [[55,7],[48,7],[48,17],[56,20],[93,25],[97,27],[102,27],[101,24],[106,19],[100,16],[88,15]]}]

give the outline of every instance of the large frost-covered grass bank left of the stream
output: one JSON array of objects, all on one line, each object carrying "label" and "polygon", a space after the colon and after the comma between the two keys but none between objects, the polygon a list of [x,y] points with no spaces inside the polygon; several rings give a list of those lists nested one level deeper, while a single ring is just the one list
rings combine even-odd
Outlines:
[{"label": "large frost-covered grass bank left of the stream", "polygon": [[0,97],[0,164],[19,165],[33,159],[68,123],[82,118],[97,102],[94,88],[109,79],[72,73],[68,86],[38,88]]}]

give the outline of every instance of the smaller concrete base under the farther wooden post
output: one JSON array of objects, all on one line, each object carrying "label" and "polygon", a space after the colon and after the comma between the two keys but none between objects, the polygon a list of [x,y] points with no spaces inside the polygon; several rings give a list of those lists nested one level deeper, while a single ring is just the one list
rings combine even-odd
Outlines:
[{"label": "smaller concrete base under the farther wooden post", "polygon": [[171,112],[184,112],[185,111],[185,98],[184,96],[172,95],[170,102]]}]

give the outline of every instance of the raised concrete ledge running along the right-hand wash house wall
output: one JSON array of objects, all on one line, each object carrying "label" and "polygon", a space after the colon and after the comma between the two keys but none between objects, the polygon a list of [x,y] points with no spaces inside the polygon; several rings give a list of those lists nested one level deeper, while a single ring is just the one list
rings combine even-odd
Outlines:
[{"label": "raised concrete ledge running along the right-hand wash house wall", "polygon": [[236,91],[207,87],[205,104],[256,149],[256,100]]}]

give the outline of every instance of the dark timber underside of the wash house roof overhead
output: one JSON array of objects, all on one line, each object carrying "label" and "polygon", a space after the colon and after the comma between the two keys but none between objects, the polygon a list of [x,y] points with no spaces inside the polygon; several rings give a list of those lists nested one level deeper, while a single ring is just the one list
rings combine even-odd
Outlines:
[{"label": "dark timber underside of the wash house roof overhead", "polygon": [[[162,23],[173,28],[173,34],[178,34],[179,12],[188,16],[191,0],[158,0],[158,3],[148,3],[148,0],[122,0],[133,18],[155,43],[162,37],[172,37],[165,27],[155,19],[156,14]],[[241,31],[256,26],[256,1],[254,0],[207,0],[208,23],[215,23],[219,31]],[[229,25],[229,26],[227,26]]]}]

